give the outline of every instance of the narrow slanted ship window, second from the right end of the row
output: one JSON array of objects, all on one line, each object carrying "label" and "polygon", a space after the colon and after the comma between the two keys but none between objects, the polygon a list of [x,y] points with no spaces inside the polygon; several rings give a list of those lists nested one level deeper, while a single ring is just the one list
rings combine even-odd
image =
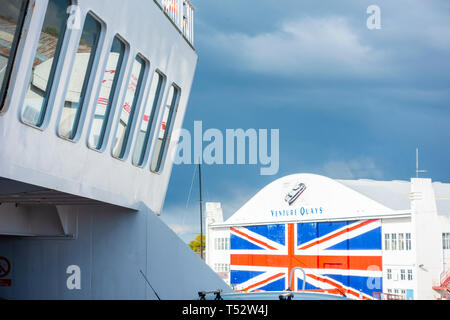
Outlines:
[{"label": "narrow slanted ship window, second from the right end of the row", "polygon": [[138,167],[144,164],[148,141],[150,140],[150,133],[161,96],[163,81],[163,75],[156,71],[153,75],[148,102],[144,110],[144,115],[142,116],[136,148],[134,149],[133,164]]}]

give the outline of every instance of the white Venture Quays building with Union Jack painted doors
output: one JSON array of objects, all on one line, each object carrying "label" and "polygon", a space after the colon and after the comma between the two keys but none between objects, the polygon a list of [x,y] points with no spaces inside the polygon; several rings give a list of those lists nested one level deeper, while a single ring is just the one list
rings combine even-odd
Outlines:
[{"label": "white Venture Quays building with Union Jack painted doors", "polygon": [[[438,299],[450,269],[450,184],[290,175],[228,220],[209,203],[206,261],[236,290],[289,287],[371,299]],[[301,289],[295,271],[291,288]],[[434,289],[433,289],[434,288]],[[447,291],[448,292],[448,291]]]}]

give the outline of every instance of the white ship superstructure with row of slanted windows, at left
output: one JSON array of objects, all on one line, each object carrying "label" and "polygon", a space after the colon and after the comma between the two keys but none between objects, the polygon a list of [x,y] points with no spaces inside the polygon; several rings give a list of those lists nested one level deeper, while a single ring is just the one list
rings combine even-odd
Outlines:
[{"label": "white ship superstructure with row of slanted windows, at left", "polygon": [[187,0],[1,2],[0,298],[230,290],[158,217],[198,59],[193,13]]}]

